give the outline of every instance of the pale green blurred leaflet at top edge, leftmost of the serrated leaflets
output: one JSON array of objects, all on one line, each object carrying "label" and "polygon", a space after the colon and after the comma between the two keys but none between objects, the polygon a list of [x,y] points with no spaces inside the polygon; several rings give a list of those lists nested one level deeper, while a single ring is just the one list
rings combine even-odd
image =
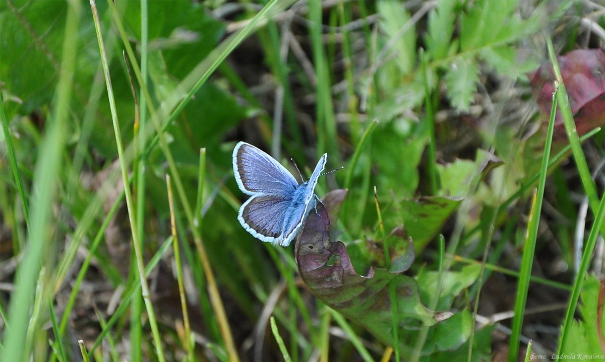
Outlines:
[{"label": "pale green blurred leaflet at top edge, leftmost of the serrated leaflets", "polygon": [[[387,39],[394,39],[393,51],[397,52],[397,66],[402,74],[410,74],[416,60],[416,29],[408,24],[410,13],[399,0],[379,1],[378,13],[381,30],[387,35]],[[402,33],[404,27],[408,28]]]}]

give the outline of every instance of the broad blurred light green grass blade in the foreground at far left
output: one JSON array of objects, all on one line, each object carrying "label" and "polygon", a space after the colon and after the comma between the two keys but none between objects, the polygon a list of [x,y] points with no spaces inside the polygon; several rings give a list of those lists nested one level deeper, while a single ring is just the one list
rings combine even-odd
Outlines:
[{"label": "broad blurred light green grass blade in the foreground at far left", "polygon": [[27,249],[24,249],[21,263],[16,271],[15,285],[17,288],[11,294],[8,308],[11,329],[4,334],[2,344],[5,349],[0,355],[2,361],[22,361],[26,360],[30,354],[30,351],[25,349],[25,338],[28,326],[30,326],[28,320],[30,320],[35,281],[41,270],[41,257],[48,246],[51,204],[56,197],[57,176],[62,167],[61,155],[67,136],[64,129],[69,117],[80,13],[80,2],[68,1],[56,102],[54,102],[53,112],[46,124],[46,134],[38,149],[38,161],[33,177],[33,193],[30,200],[32,206],[30,234]]}]

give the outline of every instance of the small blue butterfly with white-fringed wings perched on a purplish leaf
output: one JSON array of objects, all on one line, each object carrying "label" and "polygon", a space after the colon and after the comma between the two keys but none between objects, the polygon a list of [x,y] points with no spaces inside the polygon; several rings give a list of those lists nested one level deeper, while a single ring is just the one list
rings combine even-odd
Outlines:
[{"label": "small blue butterfly with white-fringed wings perched on a purplish leaf", "polygon": [[241,226],[261,241],[290,245],[317,204],[315,186],[327,157],[324,154],[319,158],[309,181],[299,185],[273,157],[246,142],[235,145],[235,181],[241,192],[250,195],[237,215]]}]

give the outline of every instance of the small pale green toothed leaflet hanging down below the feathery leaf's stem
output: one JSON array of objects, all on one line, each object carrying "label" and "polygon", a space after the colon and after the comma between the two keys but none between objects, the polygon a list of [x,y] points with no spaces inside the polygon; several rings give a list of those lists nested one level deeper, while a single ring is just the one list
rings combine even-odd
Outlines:
[{"label": "small pale green toothed leaflet hanging down below the feathery leaf's stem", "polygon": [[468,111],[473,94],[477,91],[479,66],[474,59],[456,57],[445,74],[445,85],[451,105],[459,111]]}]

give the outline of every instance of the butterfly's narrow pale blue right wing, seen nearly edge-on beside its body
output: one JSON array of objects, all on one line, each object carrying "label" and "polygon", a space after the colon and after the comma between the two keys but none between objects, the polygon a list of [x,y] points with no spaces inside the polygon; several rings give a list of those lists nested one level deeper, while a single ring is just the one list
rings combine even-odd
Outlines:
[{"label": "butterfly's narrow pale blue right wing, seen nearly edge-on beside its body", "polygon": [[290,207],[284,217],[282,231],[283,241],[279,243],[280,245],[283,245],[284,247],[290,245],[290,242],[296,237],[296,234],[302,227],[302,224],[304,224],[311,209],[315,208],[315,187],[317,186],[317,181],[321,172],[324,170],[326,159],[327,154],[324,154],[319,158],[319,162],[315,166],[315,170],[309,181],[303,183],[296,190],[292,202],[290,202]]}]

